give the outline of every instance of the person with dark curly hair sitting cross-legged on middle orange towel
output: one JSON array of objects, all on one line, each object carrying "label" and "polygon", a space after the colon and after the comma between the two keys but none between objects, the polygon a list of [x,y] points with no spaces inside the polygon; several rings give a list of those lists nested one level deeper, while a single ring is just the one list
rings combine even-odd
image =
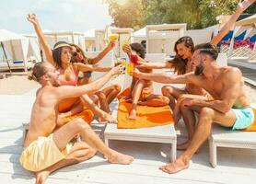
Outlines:
[{"label": "person with dark curly hair sitting cross-legged on middle orange towel", "polygon": [[[131,58],[132,51],[133,54],[137,54],[141,58],[145,58],[145,48],[140,43],[132,43],[130,45],[124,45],[122,47],[124,52],[127,52]],[[136,65],[135,65],[136,66]],[[140,72],[152,73],[152,69],[139,68]],[[133,103],[132,110],[129,114],[129,119],[136,120],[136,109],[137,104],[151,106],[151,107],[161,107],[169,104],[169,98],[162,95],[155,95],[153,90],[152,81],[148,80],[137,80],[133,77],[130,92],[125,98],[127,101]]]}]

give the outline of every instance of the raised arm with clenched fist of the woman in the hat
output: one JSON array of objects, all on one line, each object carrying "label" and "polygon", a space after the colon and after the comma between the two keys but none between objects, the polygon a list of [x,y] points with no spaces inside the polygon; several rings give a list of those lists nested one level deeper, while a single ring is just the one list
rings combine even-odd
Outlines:
[{"label": "raised arm with clenched fist of the woman in the hat", "polygon": [[37,16],[35,14],[29,14],[27,19],[29,20],[29,22],[32,23],[32,25],[38,35],[38,38],[41,41],[41,45],[42,45],[43,51],[45,52],[47,62],[52,63],[52,65],[55,66],[55,63],[54,63],[54,60],[52,57],[52,50],[51,50],[50,46],[48,45],[47,41],[45,40],[45,37],[41,31],[40,23],[37,19]]}]

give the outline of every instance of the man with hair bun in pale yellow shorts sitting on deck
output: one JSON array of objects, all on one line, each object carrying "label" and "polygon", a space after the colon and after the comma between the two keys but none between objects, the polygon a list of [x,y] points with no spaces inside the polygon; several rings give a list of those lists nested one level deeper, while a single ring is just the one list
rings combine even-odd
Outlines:
[{"label": "man with hair bun in pale yellow shorts sitting on deck", "polygon": [[[60,73],[50,63],[36,63],[30,79],[41,84],[32,108],[29,132],[20,156],[22,167],[36,172],[36,182],[44,183],[54,170],[85,161],[101,152],[110,163],[131,164],[134,158],[122,155],[101,142],[83,119],[75,119],[65,124],[57,121],[58,103],[64,98],[93,94],[106,84],[112,75],[121,74],[119,65],[95,82],[84,86],[60,86]],[[76,134],[83,141],[68,143]]]}]

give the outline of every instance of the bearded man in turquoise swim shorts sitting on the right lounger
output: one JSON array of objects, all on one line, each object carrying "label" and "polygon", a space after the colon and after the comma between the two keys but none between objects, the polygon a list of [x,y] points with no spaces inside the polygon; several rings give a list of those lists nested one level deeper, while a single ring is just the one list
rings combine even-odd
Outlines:
[{"label": "bearded man in turquoise swim shorts sitting on the right lounger", "polygon": [[159,83],[191,83],[204,88],[214,98],[213,100],[186,98],[182,101],[184,107],[199,113],[199,122],[187,150],[173,163],[161,167],[169,174],[189,167],[192,155],[210,135],[213,122],[237,130],[249,127],[253,121],[253,111],[250,109],[250,100],[245,94],[240,70],[230,66],[218,66],[215,62],[217,54],[215,46],[210,43],[196,46],[192,55],[192,63],[197,65],[194,74],[176,76],[134,72],[137,78]]}]

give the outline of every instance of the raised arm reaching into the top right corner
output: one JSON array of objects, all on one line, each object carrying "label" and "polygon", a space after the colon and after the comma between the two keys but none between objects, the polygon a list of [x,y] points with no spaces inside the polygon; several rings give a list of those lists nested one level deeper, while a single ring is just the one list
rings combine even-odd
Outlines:
[{"label": "raised arm reaching into the top right corner", "polygon": [[255,0],[244,0],[243,2],[240,2],[235,13],[230,17],[230,19],[227,21],[225,26],[220,29],[218,34],[211,40],[211,43],[216,45],[220,40],[227,35],[229,30],[235,25],[237,19],[241,15],[241,13],[246,10]]}]

